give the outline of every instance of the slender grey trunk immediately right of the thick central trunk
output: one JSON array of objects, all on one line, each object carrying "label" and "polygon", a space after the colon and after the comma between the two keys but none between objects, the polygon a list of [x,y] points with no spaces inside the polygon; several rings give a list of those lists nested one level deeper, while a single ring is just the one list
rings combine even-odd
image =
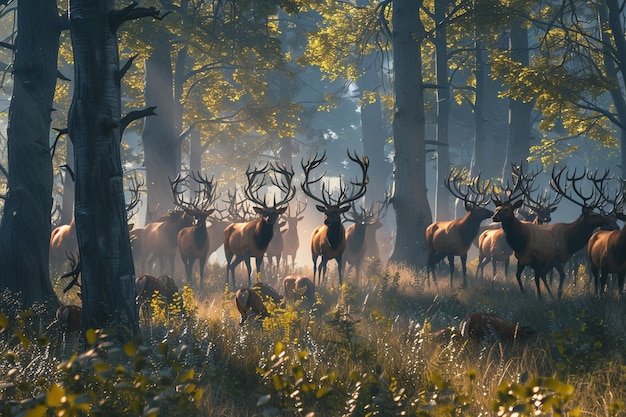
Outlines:
[{"label": "slender grey trunk immediately right of the thick central trunk", "polygon": [[[448,0],[435,1],[435,21],[443,22],[446,18]],[[450,173],[449,121],[450,87],[448,80],[448,37],[446,25],[437,28],[435,54],[437,68],[437,180],[435,188],[435,218],[450,220],[450,192],[444,185],[444,178]]]}]

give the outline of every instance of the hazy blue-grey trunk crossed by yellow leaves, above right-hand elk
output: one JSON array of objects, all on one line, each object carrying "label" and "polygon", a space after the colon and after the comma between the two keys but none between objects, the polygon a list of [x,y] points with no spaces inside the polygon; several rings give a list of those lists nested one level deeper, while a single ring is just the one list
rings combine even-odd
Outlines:
[{"label": "hazy blue-grey trunk crossed by yellow leaves, above right-hand elk", "polygon": [[[511,57],[527,67],[530,63],[528,54],[528,30],[522,26],[511,28],[510,38]],[[524,103],[522,100],[509,100],[509,134],[507,152],[502,179],[511,178],[511,164],[524,164],[530,154],[531,112],[533,103]]]}]

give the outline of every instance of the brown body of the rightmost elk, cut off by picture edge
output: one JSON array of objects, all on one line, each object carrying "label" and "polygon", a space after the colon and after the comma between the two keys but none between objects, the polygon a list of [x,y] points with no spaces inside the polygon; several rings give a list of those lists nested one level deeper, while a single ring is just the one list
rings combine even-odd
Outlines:
[{"label": "brown body of the rightmost elk, cut off by picture edge", "polygon": [[621,295],[626,275],[626,227],[622,230],[600,230],[594,233],[587,243],[587,256],[591,263],[596,295],[604,292],[609,273],[617,273],[618,290]]}]

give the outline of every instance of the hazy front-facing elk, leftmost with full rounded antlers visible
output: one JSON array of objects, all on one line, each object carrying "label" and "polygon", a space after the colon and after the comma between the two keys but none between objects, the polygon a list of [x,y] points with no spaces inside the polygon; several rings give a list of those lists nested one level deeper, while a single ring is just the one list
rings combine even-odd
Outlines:
[{"label": "hazy front-facing elk, leftmost with full rounded antlers visible", "polygon": [[198,189],[193,192],[192,201],[185,201],[185,190],[179,190],[181,183],[186,183],[188,176],[178,176],[170,185],[172,195],[174,197],[174,205],[182,209],[189,216],[193,217],[194,225],[182,228],[177,235],[178,251],[180,258],[185,266],[185,276],[187,282],[191,282],[193,264],[198,260],[198,269],[200,273],[200,289],[203,285],[204,265],[209,253],[209,234],[206,227],[206,219],[215,209],[211,208],[217,196],[215,193],[216,184],[213,178],[202,177],[200,173],[191,173],[191,178],[198,184]]}]

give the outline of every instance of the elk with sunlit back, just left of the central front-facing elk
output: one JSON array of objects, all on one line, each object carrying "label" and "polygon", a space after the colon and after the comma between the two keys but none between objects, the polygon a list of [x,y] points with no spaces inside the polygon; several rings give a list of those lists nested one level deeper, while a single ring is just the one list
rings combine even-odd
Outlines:
[{"label": "elk with sunlit back, just left of the central front-facing elk", "polygon": [[[273,171],[274,175],[269,175],[269,171]],[[296,193],[296,187],[291,185],[293,175],[293,170],[287,169],[284,165],[266,164],[265,167],[254,170],[248,166],[246,171],[248,184],[244,188],[244,192],[248,200],[256,204],[253,210],[259,217],[245,223],[232,223],[224,230],[224,253],[227,263],[226,284],[228,284],[230,275],[233,287],[235,286],[235,268],[243,261],[248,270],[248,286],[251,286],[250,257],[254,257],[256,260],[256,272],[261,272],[263,256],[274,236],[274,223],[287,210],[286,204]],[[262,177],[261,180],[258,180],[259,176]],[[274,195],[274,203],[271,207],[266,201],[266,195],[263,196],[263,199],[258,195],[259,190],[267,185],[268,176],[271,183],[283,193],[283,197],[279,201],[276,201]],[[282,180],[279,180],[278,176],[281,176]]]}]

